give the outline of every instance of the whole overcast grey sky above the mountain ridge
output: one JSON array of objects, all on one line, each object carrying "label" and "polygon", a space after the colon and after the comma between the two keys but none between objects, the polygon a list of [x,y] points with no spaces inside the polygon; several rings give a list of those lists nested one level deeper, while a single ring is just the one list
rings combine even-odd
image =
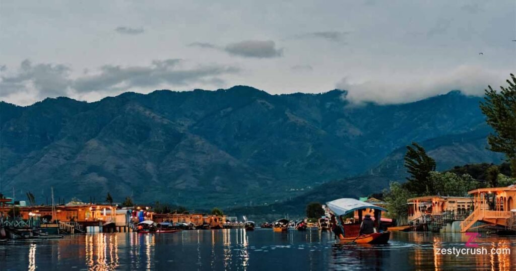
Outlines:
[{"label": "whole overcast grey sky above the mountain ridge", "polygon": [[[516,1],[0,1],[0,100],[249,85],[399,103],[516,71]],[[482,53],[482,54],[479,54]]]}]

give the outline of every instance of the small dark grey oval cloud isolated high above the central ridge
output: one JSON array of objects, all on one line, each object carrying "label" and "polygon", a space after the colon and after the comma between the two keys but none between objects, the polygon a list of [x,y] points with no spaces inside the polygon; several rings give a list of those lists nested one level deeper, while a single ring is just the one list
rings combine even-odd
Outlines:
[{"label": "small dark grey oval cloud isolated high above the central ridge", "polygon": [[276,49],[276,44],[271,40],[246,40],[230,43],[224,47],[224,51],[230,55],[255,58],[272,58],[283,55],[283,49]]}]

